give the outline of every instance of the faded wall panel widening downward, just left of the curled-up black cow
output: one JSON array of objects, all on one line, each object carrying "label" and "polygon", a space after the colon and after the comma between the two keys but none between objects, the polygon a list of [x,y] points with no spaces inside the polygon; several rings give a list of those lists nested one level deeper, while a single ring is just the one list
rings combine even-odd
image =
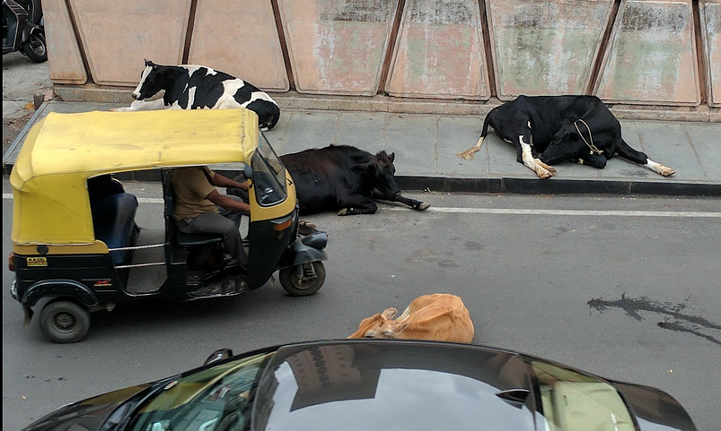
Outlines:
[{"label": "faded wall panel widening downward, just left of the curled-up black cow", "polygon": [[386,91],[487,100],[485,58],[478,0],[407,0]]}]

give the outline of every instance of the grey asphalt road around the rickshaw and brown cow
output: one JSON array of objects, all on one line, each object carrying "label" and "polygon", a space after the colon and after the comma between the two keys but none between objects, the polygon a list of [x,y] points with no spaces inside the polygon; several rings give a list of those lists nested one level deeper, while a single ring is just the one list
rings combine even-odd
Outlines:
[{"label": "grey asphalt road around the rickshaw and brown cow", "polygon": [[[162,226],[157,184],[127,183],[138,223]],[[4,178],[3,255],[12,200]],[[101,392],[295,340],[345,338],[362,318],[419,295],[460,295],[475,342],[613,379],[660,387],[700,430],[721,424],[721,201],[670,197],[409,194],[426,212],[382,204],[373,216],[308,217],[329,232],[313,297],[279,285],[240,297],[119,305],[87,338],[53,344],[3,269],[3,429]],[[711,217],[708,217],[711,216]]]}]

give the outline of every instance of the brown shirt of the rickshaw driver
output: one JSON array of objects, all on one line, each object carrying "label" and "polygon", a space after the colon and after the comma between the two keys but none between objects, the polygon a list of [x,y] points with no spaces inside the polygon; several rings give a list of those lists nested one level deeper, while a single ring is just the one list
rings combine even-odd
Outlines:
[{"label": "brown shirt of the rickshaw driver", "polygon": [[173,218],[195,219],[206,212],[218,212],[215,203],[206,199],[208,194],[215,191],[215,185],[208,179],[214,176],[215,172],[207,166],[172,169],[172,188],[175,193]]}]

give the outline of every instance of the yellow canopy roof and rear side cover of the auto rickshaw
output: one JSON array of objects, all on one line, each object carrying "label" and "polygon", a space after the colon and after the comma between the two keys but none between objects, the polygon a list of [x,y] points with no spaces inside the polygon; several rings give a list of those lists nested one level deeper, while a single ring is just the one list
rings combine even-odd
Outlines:
[{"label": "yellow canopy roof and rear side cover of the auto rickshaw", "polygon": [[50,113],[32,126],[10,174],[13,243],[92,244],[88,178],[250,162],[258,138],[258,116],[244,108]]}]

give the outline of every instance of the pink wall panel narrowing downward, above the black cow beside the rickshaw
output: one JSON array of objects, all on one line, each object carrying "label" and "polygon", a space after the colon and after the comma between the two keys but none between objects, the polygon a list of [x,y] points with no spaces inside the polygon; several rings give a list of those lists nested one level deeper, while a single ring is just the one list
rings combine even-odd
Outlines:
[{"label": "pink wall panel narrowing downward, above the black cow beside the rickshaw", "polygon": [[374,95],[397,0],[278,0],[301,93]]}]

